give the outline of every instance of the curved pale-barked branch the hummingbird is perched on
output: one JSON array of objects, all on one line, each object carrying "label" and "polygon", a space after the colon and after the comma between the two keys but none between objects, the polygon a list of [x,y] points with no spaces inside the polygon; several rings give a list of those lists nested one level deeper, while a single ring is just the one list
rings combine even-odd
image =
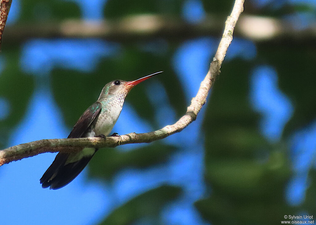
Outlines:
[{"label": "curved pale-barked branch the hummingbird is perched on", "polygon": [[43,139],[15,145],[0,151],[0,166],[45,152],[76,152],[82,150],[83,147],[104,148],[131,143],[149,143],[182,131],[196,119],[198,112],[206,102],[206,97],[214,84],[216,76],[220,73],[226,51],[233,40],[235,24],[243,11],[243,4],[244,0],[235,1],[233,11],[225,22],[224,33],[210,69],[201,82],[196,97],[192,98],[185,115],[176,123],[149,133],[129,133],[119,137],[106,137],[105,140],[102,138]]}]

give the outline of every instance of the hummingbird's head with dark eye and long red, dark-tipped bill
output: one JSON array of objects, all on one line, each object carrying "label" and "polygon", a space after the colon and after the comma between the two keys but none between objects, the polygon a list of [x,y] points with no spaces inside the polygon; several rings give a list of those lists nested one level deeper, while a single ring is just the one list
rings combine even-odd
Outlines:
[{"label": "hummingbird's head with dark eye and long red, dark-tipped bill", "polygon": [[126,95],[128,94],[128,92],[131,91],[131,89],[136,86],[137,84],[143,82],[144,80],[147,80],[148,78],[162,73],[161,72],[157,72],[154,74],[150,74],[148,76],[139,78],[137,80],[132,80],[132,81],[124,81],[124,80],[113,80],[110,83],[106,84],[106,86],[104,86],[104,88],[102,89],[102,92],[100,94],[100,98],[104,98],[106,96],[117,96],[117,95],[123,95],[124,98],[126,97]]}]

